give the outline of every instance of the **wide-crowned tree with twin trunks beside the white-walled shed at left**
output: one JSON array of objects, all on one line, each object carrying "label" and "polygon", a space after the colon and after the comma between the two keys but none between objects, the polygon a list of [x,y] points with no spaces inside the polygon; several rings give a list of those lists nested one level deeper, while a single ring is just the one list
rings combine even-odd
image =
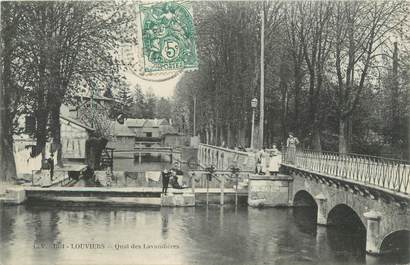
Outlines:
[{"label": "wide-crowned tree with twin trunks beside the white-walled shed at left", "polygon": [[[22,75],[13,75],[13,82],[27,89],[23,98],[31,99],[28,108],[37,121],[37,143],[32,155],[44,156],[49,137],[61,151],[60,106],[78,92],[82,82],[89,87],[118,82],[119,67],[112,51],[121,40],[127,39],[120,33],[132,20],[124,5],[109,2],[14,5],[21,13],[13,31],[17,33],[3,36],[13,38],[12,42],[18,44],[19,53],[13,62],[24,71]],[[61,164],[61,152],[57,160]]]}]

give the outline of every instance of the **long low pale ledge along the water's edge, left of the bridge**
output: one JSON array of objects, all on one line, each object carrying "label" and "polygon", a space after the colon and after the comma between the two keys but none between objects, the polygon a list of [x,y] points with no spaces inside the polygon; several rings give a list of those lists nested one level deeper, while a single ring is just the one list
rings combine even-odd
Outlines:
[{"label": "long low pale ledge along the water's edge, left of the bridge", "polygon": [[234,189],[168,189],[168,194],[161,193],[156,187],[102,188],[102,187],[20,187],[8,189],[8,197],[15,198],[9,204],[58,203],[82,206],[123,205],[123,206],[165,206],[181,207],[201,204],[235,204],[247,201],[247,192]]}]

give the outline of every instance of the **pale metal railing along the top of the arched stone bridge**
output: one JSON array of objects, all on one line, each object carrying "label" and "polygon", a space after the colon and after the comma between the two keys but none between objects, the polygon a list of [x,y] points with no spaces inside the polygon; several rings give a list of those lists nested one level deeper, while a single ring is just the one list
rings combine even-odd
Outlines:
[{"label": "pale metal railing along the top of the arched stone bridge", "polygon": [[409,161],[359,154],[284,150],[282,163],[395,192],[410,192]]}]

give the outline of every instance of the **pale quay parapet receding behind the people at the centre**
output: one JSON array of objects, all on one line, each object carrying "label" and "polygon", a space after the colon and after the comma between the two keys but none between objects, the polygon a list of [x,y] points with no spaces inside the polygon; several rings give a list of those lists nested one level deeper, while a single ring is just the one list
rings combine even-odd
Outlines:
[{"label": "pale quay parapet receding behind the people at the centre", "polygon": [[207,144],[199,144],[198,162],[202,167],[214,165],[218,170],[227,170],[236,165],[241,171],[254,171],[256,165],[254,153]]}]

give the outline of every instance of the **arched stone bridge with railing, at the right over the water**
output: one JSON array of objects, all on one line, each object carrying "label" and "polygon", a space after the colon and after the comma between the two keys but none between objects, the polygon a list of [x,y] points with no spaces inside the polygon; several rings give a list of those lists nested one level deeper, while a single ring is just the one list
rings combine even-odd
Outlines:
[{"label": "arched stone bridge with railing, at the right over the water", "polygon": [[409,247],[408,162],[298,151],[285,153],[281,169],[293,178],[289,205],[313,206],[319,225],[362,227],[370,254]]}]

